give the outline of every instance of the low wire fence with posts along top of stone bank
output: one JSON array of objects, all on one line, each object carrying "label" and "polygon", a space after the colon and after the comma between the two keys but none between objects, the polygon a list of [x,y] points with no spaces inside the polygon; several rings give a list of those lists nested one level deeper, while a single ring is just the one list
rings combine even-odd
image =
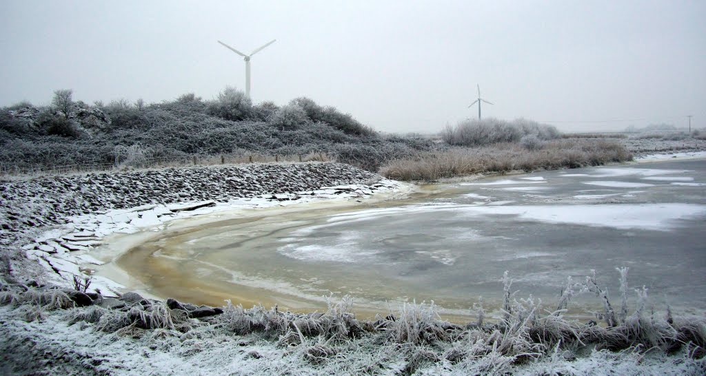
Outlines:
[{"label": "low wire fence with posts along top of stone bank", "polygon": [[295,155],[210,155],[171,158],[140,158],[116,160],[112,163],[64,164],[57,166],[17,166],[0,162],[0,176],[61,175],[98,171],[126,171],[184,166],[212,166],[216,164],[277,163],[277,162],[326,162],[330,157],[324,152]]}]

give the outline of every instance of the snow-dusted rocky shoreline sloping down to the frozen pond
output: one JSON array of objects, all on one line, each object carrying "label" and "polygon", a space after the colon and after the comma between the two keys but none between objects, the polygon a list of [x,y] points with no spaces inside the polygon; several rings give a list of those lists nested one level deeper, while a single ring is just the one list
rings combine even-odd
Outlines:
[{"label": "snow-dusted rocky shoreline sloping down to the frozen pond", "polygon": [[[90,250],[133,233],[214,210],[357,198],[399,183],[348,164],[241,164],[45,176],[0,182],[0,247],[8,279],[71,287],[102,262]],[[37,267],[41,265],[41,267]],[[86,265],[89,265],[88,267]],[[44,273],[43,270],[49,271]],[[119,285],[96,277],[91,290]],[[98,289],[98,290],[96,290]]]}]

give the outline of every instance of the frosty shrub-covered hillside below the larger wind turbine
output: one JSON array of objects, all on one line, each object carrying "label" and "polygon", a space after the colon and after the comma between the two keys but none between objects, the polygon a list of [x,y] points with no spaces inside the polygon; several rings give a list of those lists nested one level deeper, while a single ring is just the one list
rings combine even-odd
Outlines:
[{"label": "frosty shrub-covered hillside below the larger wind turbine", "polygon": [[253,105],[232,87],[213,100],[186,94],[158,104],[85,104],[71,94],[56,90],[51,106],[23,102],[0,110],[1,169],[325,153],[375,170],[390,159],[436,148],[431,140],[380,135],[305,97],[279,107]]}]

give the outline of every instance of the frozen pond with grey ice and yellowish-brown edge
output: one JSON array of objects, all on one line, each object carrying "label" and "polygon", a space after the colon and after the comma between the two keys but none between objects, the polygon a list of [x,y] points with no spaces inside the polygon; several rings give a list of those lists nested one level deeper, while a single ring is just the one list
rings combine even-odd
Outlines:
[{"label": "frozen pond with grey ice and yellowish-brown edge", "polygon": [[[467,315],[502,298],[505,270],[547,308],[571,276],[596,269],[618,302],[630,267],[656,308],[706,308],[706,162],[605,166],[425,187],[409,200],[355,210],[229,219],[165,232],[119,264],[145,289],[193,303],[325,307],[350,294],[361,312],[433,300]],[[634,294],[633,294],[634,295]],[[585,296],[576,312],[598,310]]]}]

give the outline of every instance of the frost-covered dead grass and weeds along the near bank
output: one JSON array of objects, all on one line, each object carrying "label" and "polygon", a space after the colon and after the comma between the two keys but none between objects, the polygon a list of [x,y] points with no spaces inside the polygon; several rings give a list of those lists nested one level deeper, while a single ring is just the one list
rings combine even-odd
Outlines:
[{"label": "frost-covered dead grass and weeds along the near bank", "polygon": [[[316,372],[412,374],[419,370],[454,370],[505,374],[537,364],[571,369],[572,364],[594,361],[596,357],[618,367],[618,356],[623,361],[652,356],[665,364],[688,363],[690,370],[702,368],[706,319],[673,317],[669,307],[666,314],[657,313],[644,287],[634,290],[637,299],[630,312],[628,268],[620,268],[618,273],[621,305],[617,311],[593,273],[582,283],[568,279],[556,310],[547,310],[532,296],[516,298],[512,279],[505,273],[501,279],[501,320],[486,322],[480,300],[474,305],[478,320],[467,325],[441,320],[433,302],[404,303],[375,321],[357,320],[350,297],[340,301],[329,298],[324,312],[309,314],[290,313],[277,306],[246,309],[229,303],[220,315],[198,320],[155,301],[135,301],[121,309],[95,305],[73,308],[66,293],[27,286],[4,285],[0,302],[15,307],[13,312],[22,320],[41,321],[43,313],[66,309],[64,320],[69,325],[82,323],[82,328],[92,326],[99,333],[140,339],[150,346],[164,344],[167,349],[176,346],[172,343],[176,340],[189,347],[188,354],[207,351],[201,344],[209,339],[239,338],[244,341],[239,346],[265,341],[282,349],[289,363],[301,362]],[[594,294],[602,301],[604,310],[596,318],[603,320],[603,325],[563,316],[571,299],[582,293]],[[251,358],[263,356],[257,351],[248,354]]]}]

